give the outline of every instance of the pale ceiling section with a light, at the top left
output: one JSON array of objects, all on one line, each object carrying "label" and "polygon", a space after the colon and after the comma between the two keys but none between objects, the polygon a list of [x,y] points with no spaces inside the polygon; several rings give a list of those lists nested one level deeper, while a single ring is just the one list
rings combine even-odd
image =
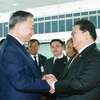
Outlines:
[{"label": "pale ceiling section with a light, at the top left", "polygon": [[0,0],[0,13],[76,1],[82,0]]}]

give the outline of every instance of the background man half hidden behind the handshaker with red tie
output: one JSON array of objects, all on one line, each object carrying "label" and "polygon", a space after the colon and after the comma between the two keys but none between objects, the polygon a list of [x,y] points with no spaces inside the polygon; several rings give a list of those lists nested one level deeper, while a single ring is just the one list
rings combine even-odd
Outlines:
[{"label": "background man half hidden behind the handshaker with red tie", "polygon": [[[77,50],[73,47],[72,38],[69,38],[67,40],[66,46],[65,46],[65,52],[66,52],[66,57],[63,57],[61,59],[57,59],[55,61],[54,70],[52,72],[52,74],[55,75],[55,77],[58,80],[60,80],[61,75],[66,67],[66,64],[70,60],[70,58],[77,52]],[[67,62],[66,62],[66,59],[67,59]]]}]

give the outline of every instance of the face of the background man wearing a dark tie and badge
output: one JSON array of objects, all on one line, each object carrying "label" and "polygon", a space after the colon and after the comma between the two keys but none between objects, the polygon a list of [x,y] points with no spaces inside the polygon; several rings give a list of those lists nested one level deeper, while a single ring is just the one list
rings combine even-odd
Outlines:
[{"label": "face of the background man wearing a dark tie and badge", "polygon": [[39,50],[39,45],[37,41],[31,42],[29,44],[28,47],[28,51],[32,54],[32,55],[36,55],[38,53]]}]

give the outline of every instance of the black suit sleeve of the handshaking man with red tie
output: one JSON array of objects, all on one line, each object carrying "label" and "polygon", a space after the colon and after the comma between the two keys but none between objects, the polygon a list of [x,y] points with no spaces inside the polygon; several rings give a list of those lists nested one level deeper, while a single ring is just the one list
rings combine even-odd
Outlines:
[{"label": "black suit sleeve of the handshaking man with red tie", "polygon": [[84,94],[92,90],[100,82],[100,54],[91,56],[81,65],[78,75],[55,83],[58,96]]}]

